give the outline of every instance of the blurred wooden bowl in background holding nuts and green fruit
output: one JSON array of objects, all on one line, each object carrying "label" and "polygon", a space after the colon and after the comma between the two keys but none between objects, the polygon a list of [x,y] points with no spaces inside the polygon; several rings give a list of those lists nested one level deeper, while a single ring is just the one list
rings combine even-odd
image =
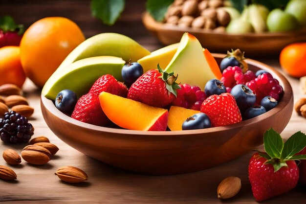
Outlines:
[{"label": "blurred wooden bowl in background holding nuts and green fruit", "polygon": [[247,57],[278,55],[286,45],[306,41],[306,28],[296,32],[227,34],[159,23],[147,12],[142,22],[164,45],[178,43],[184,32],[189,32],[211,52],[226,53],[232,48],[240,48]]}]

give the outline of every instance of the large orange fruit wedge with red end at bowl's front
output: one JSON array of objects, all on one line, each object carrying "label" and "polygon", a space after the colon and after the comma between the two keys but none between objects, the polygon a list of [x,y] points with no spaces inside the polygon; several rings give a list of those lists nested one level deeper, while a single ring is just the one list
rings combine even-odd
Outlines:
[{"label": "large orange fruit wedge with red end at bowl's front", "polygon": [[102,92],[99,95],[103,112],[116,125],[141,131],[166,131],[168,110]]}]

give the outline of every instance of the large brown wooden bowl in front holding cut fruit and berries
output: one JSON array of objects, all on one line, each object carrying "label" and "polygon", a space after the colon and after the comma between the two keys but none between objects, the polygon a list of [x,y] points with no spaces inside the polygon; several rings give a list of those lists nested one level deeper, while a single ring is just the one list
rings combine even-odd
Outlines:
[{"label": "large brown wooden bowl in front holding cut fruit and berries", "polygon": [[[218,63],[225,56],[214,54]],[[72,119],[43,95],[44,120],[71,147],[110,165],[143,174],[166,175],[202,170],[235,159],[262,144],[263,133],[281,133],[293,111],[289,82],[277,70],[247,60],[251,70],[264,69],[284,87],[278,106],[238,124],[202,130],[144,132],[99,127]]]}]

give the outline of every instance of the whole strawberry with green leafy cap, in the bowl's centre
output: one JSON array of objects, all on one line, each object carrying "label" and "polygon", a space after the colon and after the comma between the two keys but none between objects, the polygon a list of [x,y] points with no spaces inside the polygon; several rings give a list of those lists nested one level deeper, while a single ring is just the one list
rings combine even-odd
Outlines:
[{"label": "whole strawberry with green leafy cap, in the bowl's centre", "polygon": [[147,71],[131,85],[128,98],[159,108],[168,106],[180,89],[176,79],[174,72],[167,73],[157,65],[157,69]]}]

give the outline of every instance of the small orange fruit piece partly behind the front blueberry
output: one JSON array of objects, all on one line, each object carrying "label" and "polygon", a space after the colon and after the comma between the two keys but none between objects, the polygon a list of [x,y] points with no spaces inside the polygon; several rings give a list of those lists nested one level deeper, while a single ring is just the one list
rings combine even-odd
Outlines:
[{"label": "small orange fruit piece partly behind the front blueberry", "polygon": [[171,131],[182,130],[183,122],[190,116],[200,113],[199,111],[171,106],[169,110],[168,127]]}]

